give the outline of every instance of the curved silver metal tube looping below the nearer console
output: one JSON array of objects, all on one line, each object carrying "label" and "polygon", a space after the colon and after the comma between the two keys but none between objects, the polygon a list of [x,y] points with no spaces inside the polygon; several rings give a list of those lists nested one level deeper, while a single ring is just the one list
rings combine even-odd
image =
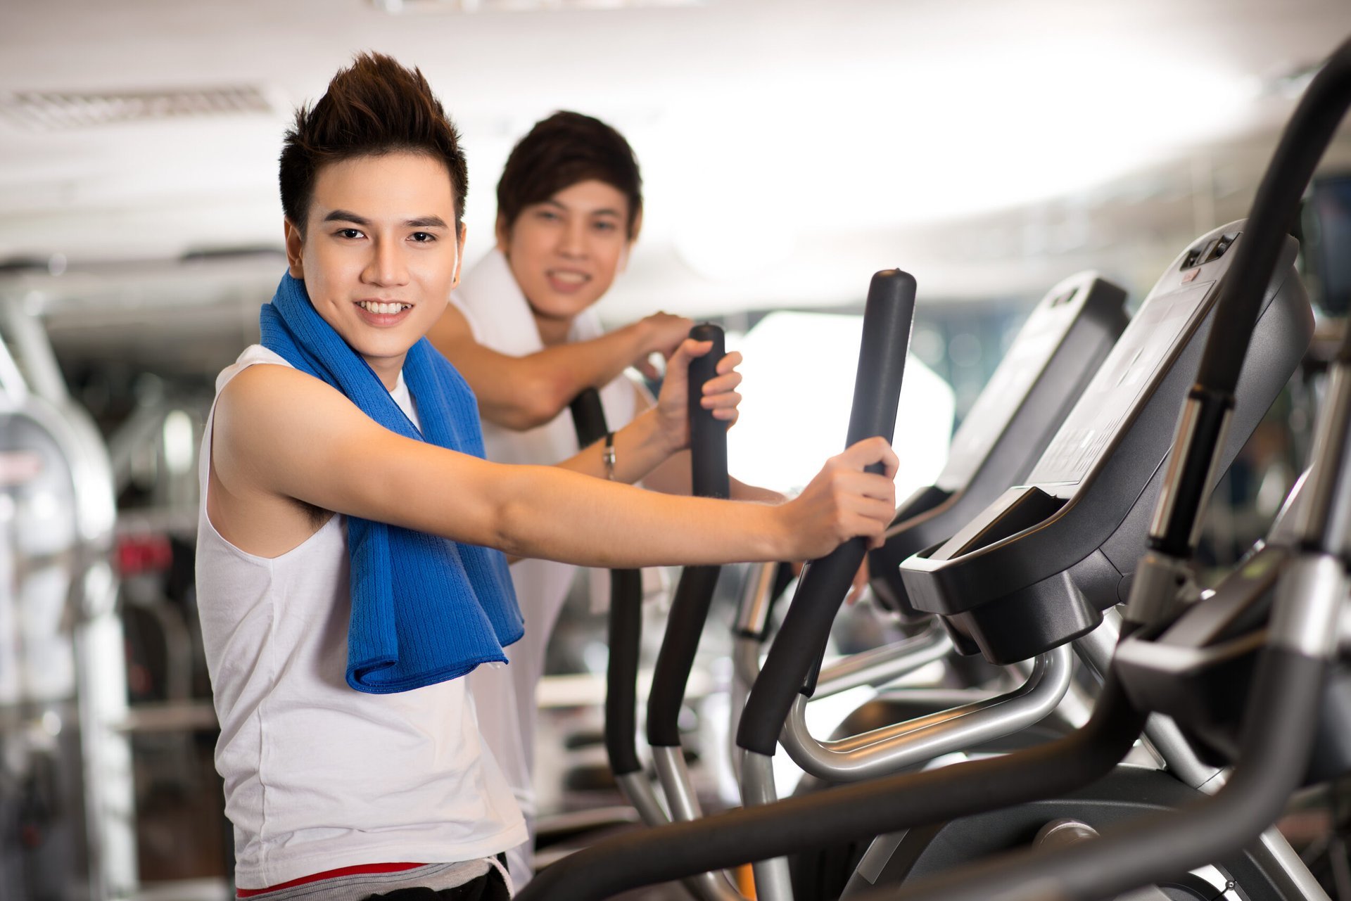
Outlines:
[{"label": "curved silver metal tube looping below the nearer console", "polygon": [[1032,675],[1015,692],[838,742],[812,738],[807,731],[807,698],[798,696],[780,742],[794,763],[820,779],[857,782],[886,775],[1011,735],[1046,717],[1070,688],[1071,659],[1070,647],[1062,644],[1038,657]]}]

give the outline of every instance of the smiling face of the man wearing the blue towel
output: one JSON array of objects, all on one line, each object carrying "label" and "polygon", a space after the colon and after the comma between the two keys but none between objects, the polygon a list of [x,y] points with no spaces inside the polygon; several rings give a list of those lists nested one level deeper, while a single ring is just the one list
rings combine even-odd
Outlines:
[{"label": "smiling face of the man wearing the blue towel", "polygon": [[423,154],[330,163],[315,180],[304,236],[286,222],[290,274],[389,389],[444,312],[463,243],[450,174]]}]

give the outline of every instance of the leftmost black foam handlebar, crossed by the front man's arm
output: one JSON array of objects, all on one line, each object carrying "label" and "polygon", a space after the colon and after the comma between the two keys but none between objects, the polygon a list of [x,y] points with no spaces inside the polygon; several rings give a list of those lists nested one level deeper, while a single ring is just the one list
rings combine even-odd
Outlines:
[{"label": "leftmost black foam handlebar, crossed by the front man's arm", "polygon": [[[577,443],[594,444],[609,427],[600,392],[582,390],[570,405]],[[605,754],[616,775],[636,773],[638,652],[643,636],[643,580],[640,570],[609,573],[609,666],[605,669]]]}]

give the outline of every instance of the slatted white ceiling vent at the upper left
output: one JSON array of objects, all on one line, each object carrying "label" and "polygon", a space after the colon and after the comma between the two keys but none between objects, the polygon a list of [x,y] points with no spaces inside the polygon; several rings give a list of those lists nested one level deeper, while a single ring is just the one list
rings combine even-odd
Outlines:
[{"label": "slatted white ceiling vent at the upper left", "polygon": [[69,131],[135,122],[272,113],[253,85],[170,91],[18,91],[0,93],[0,119],[31,131]]}]

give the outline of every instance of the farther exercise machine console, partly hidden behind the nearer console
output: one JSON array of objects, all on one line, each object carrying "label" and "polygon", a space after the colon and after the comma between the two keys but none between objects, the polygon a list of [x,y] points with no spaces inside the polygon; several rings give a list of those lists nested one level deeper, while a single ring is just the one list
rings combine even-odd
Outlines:
[{"label": "farther exercise machine console, partly hidden behind the nearer console", "polygon": [[884,608],[905,621],[931,616],[911,604],[901,561],[946,540],[1027,478],[1128,321],[1125,290],[1092,272],[1065,278],[1038,301],[952,436],[935,484],[897,508],[886,544],[869,552],[870,585]]}]

